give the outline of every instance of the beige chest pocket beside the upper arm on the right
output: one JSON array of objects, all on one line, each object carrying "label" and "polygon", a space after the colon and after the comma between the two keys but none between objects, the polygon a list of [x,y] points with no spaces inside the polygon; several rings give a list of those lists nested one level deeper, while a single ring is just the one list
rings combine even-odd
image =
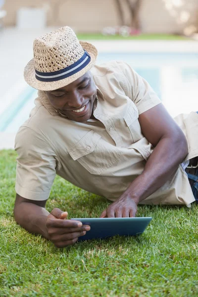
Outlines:
[{"label": "beige chest pocket beside the upper arm on the right", "polygon": [[142,134],[138,117],[139,117],[138,108],[136,107],[133,101],[130,101],[129,107],[124,116],[124,120],[131,132],[134,143],[136,143],[137,141],[139,141],[144,137],[144,135]]}]

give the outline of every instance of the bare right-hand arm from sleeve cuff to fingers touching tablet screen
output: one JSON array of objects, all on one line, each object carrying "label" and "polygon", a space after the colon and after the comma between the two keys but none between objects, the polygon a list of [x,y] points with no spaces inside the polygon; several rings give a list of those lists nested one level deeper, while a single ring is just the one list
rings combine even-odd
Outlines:
[{"label": "bare right-hand arm from sleeve cuff to fingers touching tablet screen", "polygon": [[139,122],[144,136],[155,148],[143,173],[101,217],[135,216],[138,203],[163,186],[188,153],[185,135],[162,104],[142,113]]}]

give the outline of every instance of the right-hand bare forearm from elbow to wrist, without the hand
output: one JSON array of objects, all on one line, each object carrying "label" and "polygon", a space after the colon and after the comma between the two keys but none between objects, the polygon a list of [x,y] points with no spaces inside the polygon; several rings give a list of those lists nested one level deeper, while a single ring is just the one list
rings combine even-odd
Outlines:
[{"label": "right-hand bare forearm from elbow to wrist, without the hand", "polygon": [[143,173],[130,184],[123,195],[131,196],[137,203],[146,199],[170,179],[187,153],[186,140],[173,143],[169,138],[162,138],[148,158]]}]

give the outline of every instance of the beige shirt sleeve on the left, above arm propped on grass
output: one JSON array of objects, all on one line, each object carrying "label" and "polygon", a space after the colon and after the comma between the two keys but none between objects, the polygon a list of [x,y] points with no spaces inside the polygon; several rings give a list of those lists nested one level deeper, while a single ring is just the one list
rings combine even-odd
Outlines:
[{"label": "beige shirt sleeve on the left, above arm propped on grass", "polygon": [[32,128],[22,126],[15,138],[18,154],[15,190],[30,200],[46,200],[56,175],[56,155]]}]

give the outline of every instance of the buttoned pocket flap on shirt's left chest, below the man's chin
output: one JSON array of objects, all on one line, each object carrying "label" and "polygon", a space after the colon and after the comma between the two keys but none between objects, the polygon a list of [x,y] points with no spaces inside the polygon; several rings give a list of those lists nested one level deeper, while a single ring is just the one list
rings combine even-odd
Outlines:
[{"label": "buttoned pocket flap on shirt's left chest, below the man's chin", "polygon": [[77,144],[68,149],[68,153],[73,160],[85,156],[94,151],[101,136],[93,130],[89,131]]}]

